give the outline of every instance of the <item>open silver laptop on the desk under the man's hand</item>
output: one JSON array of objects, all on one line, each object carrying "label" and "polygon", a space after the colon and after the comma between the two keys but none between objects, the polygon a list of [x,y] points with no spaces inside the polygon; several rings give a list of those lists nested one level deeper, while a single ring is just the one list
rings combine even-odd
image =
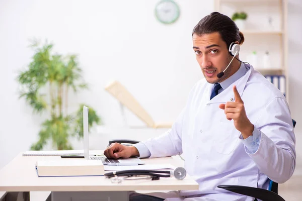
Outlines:
[{"label": "open silver laptop on the desk under the man's hand", "polygon": [[92,156],[89,154],[89,132],[88,132],[88,111],[89,108],[83,107],[83,135],[84,135],[84,158],[87,160],[101,160],[104,165],[142,165],[144,162],[137,157],[109,159],[104,155]]}]

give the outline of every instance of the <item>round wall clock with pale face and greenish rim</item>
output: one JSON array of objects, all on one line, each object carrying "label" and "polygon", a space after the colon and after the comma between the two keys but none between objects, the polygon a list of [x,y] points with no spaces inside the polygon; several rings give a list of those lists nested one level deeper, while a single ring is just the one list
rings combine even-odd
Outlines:
[{"label": "round wall clock with pale face and greenish rim", "polygon": [[179,18],[179,7],[173,0],[162,0],[155,8],[157,19],[164,24],[172,24]]}]

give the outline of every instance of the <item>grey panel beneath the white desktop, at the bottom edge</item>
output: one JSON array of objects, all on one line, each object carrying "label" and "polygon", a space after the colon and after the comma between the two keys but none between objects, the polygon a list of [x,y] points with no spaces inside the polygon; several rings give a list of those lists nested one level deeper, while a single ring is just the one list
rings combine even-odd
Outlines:
[{"label": "grey panel beneath the white desktop, at the bottom edge", "polygon": [[128,191],[64,191],[51,192],[51,197],[47,201],[66,201],[66,200],[106,200],[106,201],[129,201]]}]

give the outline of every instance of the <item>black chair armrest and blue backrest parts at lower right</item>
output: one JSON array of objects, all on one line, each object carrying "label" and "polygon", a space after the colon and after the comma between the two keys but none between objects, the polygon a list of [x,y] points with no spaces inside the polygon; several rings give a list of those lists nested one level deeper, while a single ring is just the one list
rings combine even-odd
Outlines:
[{"label": "black chair armrest and blue backrest parts at lower right", "polygon": [[[294,128],[296,121],[292,120],[292,124]],[[285,201],[285,199],[278,195],[278,183],[272,180],[270,180],[269,182],[268,190],[242,185],[218,185],[217,187],[239,194],[255,197],[255,200],[261,199],[262,201]]]}]

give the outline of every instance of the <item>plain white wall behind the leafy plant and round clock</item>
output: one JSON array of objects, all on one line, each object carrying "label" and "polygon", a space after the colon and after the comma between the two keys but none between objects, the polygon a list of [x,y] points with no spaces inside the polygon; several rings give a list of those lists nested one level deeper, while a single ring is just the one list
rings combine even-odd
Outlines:
[{"label": "plain white wall behind the leafy plant and round clock", "polygon": [[[18,100],[15,81],[33,55],[28,48],[33,37],[53,41],[55,52],[80,55],[91,90],[75,97],[94,107],[106,125],[122,124],[118,103],[104,91],[113,79],[126,86],[155,122],[173,122],[202,77],[192,29],[213,10],[211,1],[176,2],[181,17],[167,26],[155,18],[157,0],[0,1],[0,168],[29,149],[45,118]],[[127,119],[142,125],[129,112]]]}]

